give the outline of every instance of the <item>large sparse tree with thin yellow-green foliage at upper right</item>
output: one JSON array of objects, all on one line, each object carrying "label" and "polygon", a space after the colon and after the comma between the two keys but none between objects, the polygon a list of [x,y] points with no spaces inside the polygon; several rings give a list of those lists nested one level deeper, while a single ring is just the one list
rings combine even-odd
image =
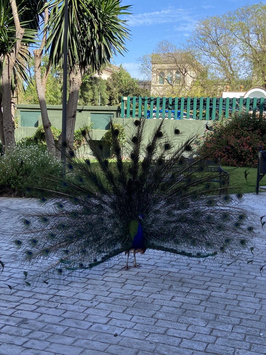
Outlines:
[{"label": "large sparse tree with thin yellow-green foliage at upper right", "polygon": [[266,4],[246,5],[199,20],[188,46],[223,84],[266,88]]}]

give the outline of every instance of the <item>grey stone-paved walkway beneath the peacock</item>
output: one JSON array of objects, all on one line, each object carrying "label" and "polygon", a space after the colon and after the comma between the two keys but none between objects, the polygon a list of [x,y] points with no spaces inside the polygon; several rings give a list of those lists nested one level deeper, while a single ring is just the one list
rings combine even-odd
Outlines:
[{"label": "grey stone-paved walkway beneath the peacock", "polygon": [[[266,215],[266,193],[244,201]],[[0,198],[0,235],[17,228],[20,209],[35,206]],[[257,237],[250,264],[250,253],[226,267],[146,252],[137,271],[122,271],[119,256],[73,282],[33,288],[12,283],[18,271],[1,242],[0,354],[265,355],[265,237]]]}]

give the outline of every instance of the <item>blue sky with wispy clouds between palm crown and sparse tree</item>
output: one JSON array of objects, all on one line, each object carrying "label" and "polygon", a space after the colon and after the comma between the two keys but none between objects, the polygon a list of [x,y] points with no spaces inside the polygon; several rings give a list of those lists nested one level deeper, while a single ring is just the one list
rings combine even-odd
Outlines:
[{"label": "blue sky with wispy clouds between palm crown and sparse tree", "polygon": [[[143,79],[138,72],[137,59],[152,53],[156,44],[168,40],[177,47],[191,35],[195,23],[207,16],[221,15],[240,6],[257,4],[256,0],[122,0],[132,5],[128,19],[131,39],[126,41],[127,53],[113,58],[132,77]],[[265,1],[262,1],[265,2]]]}]

